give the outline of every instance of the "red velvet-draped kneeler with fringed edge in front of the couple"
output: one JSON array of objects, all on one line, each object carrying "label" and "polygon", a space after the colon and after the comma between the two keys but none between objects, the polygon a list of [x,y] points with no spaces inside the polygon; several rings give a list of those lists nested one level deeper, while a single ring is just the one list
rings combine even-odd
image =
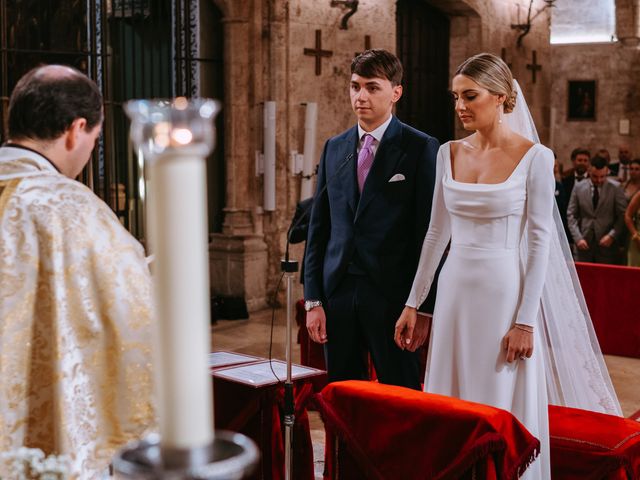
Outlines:
[{"label": "red velvet-draped kneeler with fringed edge in front of the couple", "polygon": [[327,449],[332,479],[517,480],[540,447],[505,410],[402,387],[337,382],[316,403],[340,439]]}]

